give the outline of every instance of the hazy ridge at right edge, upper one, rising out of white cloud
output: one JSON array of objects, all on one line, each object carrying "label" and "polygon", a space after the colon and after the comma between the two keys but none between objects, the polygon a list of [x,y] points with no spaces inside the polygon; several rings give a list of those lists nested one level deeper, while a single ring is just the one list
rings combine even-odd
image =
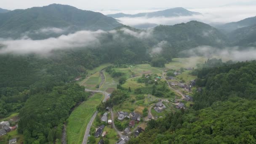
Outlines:
[{"label": "hazy ridge at right edge, upper one, rising out of white cloud", "polygon": [[224,30],[225,32],[231,32],[235,29],[239,29],[242,27],[248,27],[256,24],[256,16],[250,17],[247,19],[243,19],[241,21],[231,22],[223,25],[216,26],[218,29]]}]

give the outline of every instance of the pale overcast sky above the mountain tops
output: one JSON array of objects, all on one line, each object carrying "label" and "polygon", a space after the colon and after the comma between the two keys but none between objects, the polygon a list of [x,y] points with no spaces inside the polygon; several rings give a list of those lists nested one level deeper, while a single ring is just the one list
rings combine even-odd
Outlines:
[{"label": "pale overcast sky above the mountain tops", "polygon": [[255,0],[0,0],[9,10],[44,6],[52,3],[72,5],[83,10],[148,10],[173,7],[209,8],[223,5],[256,4]]}]

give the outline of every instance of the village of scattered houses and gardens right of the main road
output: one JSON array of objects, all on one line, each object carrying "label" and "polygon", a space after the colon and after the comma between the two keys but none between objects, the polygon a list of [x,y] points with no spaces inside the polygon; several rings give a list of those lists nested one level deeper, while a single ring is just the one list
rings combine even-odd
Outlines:
[{"label": "village of scattered houses and gardens right of the main road", "polygon": [[[189,69],[191,70],[191,69]],[[115,144],[125,144],[129,139],[136,138],[141,132],[145,131],[147,127],[147,121],[156,120],[164,117],[169,112],[175,112],[178,109],[186,109],[193,105],[192,91],[196,90],[196,80],[189,81],[180,80],[177,76],[181,75],[180,70],[174,71],[173,76],[167,76],[165,70],[163,75],[154,77],[155,82],[166,81],[171,90],[179,93],[175,94],[174,99],[157,98],[150,94],[144,96],[144,104],[133,104],[126,101],[123,104],[114,106],[113,108],[106,107],[106,111],[99,114],[101,123],[96,126],[95,131],[91,131],[92,135],[98,141],[98,144],[104,144],[104,139],[110,138],[109,132],[112,135],[115,130],[117,133],[114,136]],[[150,75],[146,75],[145,78],[149,78]],[[131,75],[131,79],[138,77],[138,75]],[[108,95],[108,99],[111,94]],[[133,96],[131,96],[133,99]],[[140,100],[139,100],[140,101]],[[139,103],[136,101],[135,103]],[[148,104],[146,104],[148,102]],[[136,108],[132,108],[136,107]],[[138,110],[143,107],[144,109]],[[146,112],[145,112],[146,110]],[[145,115],[146,113],[147,115]],[[121,126],[120,126],[121,125]],[[88,144],[90,144],[88,140]]]}]

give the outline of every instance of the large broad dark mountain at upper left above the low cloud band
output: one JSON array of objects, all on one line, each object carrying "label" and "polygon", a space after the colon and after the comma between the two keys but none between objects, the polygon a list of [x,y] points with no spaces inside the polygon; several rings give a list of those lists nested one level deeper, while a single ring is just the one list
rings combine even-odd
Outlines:
[{"label": "large broad dark mountain at upper left above the low cloud band", "polygon": [[0,14],[0,37],[20,37],[24,32],[42,28],[77,30],[110,30],[119,27],[111,17],[93,11],[84,11],[69,5],[51,4]]}]

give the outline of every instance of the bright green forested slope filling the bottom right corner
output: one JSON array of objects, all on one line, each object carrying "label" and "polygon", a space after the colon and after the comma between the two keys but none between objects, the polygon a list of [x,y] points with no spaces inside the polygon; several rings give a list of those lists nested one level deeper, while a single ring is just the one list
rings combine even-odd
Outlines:
[{"label": "bright green forested slope filling the bottom right corner", "polygon": [[255,144],[256,101],[233,98],[195,111],[180,110],[150,120],[128,144]]}]

